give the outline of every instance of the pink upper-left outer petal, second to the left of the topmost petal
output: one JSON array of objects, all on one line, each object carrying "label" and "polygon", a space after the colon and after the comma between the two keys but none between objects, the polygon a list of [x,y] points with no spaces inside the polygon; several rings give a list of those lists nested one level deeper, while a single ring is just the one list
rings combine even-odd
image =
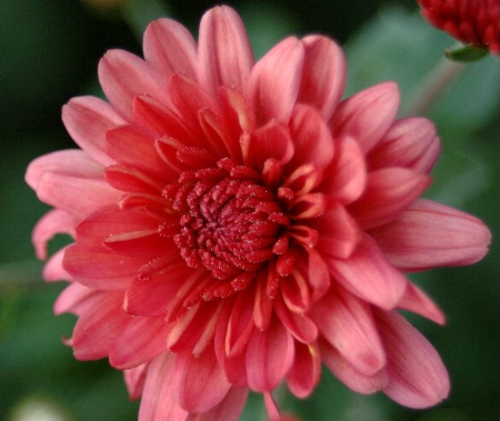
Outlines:
[{"label": "pink upper-left outer petal, second to the left of the topmost petal", "polygon": [[99,81],[113,108],[132,120],[133,98],[148,94],[164,104],[170,99],[164,78],[152,66],[123,50],[109,50],[99,62]]}]

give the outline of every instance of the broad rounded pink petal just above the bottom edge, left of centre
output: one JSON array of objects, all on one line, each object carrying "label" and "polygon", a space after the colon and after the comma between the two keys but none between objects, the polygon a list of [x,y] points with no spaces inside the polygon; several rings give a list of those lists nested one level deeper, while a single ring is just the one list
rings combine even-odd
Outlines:
[{"label": "broad rounded pink petal just above the bottom edge, left of centre", "polygon": [[231,384],[216,354],[207,349],[201,355],[179,353],[176,357],[173,384],[179,404],[189,412],[206,412],[218,405]]}]

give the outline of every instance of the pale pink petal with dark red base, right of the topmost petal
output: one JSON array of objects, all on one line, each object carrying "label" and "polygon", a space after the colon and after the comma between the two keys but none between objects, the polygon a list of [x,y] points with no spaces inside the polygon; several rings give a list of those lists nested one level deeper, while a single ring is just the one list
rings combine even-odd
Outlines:
[{"label": "pale pink petal with dark red base, right of the topmost petal", "polygon": [[260,123],[288,123],[299,96],[304,48],[290,37],[274,46],[250,73],[250,102]]}]

